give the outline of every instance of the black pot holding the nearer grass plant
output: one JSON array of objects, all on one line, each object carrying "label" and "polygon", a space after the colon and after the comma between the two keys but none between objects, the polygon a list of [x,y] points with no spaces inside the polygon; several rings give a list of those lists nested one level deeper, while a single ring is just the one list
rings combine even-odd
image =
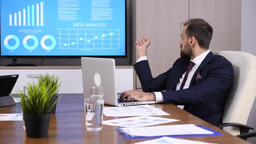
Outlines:
[{"label": "black pot holding the nearer grass plant", "polygon": [[48,137],[49,122],[52,114],[26,115],[23,119],[26,126],[26,136],[31,138]]}]

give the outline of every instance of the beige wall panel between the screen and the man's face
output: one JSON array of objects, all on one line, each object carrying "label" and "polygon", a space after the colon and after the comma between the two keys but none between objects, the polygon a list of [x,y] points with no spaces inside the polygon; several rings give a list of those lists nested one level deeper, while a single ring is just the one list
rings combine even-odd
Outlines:
[{"label": "beige wall panel between the screen and the man's face", "polygon": [[[179,57],[180,24],[186,20],[188,0],[136,1],[136,38],[151,39],[147,56],[154,77],[166,72]],[[141,88],[138,78],[136,84]]]}]

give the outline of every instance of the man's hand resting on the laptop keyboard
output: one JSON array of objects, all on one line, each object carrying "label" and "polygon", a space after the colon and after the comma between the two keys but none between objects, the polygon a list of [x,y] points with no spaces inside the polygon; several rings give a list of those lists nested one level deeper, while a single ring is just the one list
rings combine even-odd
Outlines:
[{"label": "man's hand resting on the laptop keyboard", "polygon": [[120,95],[120,101],[129,101],[131,98],[136,101],[155,101],[153,92],[125,91]]}]

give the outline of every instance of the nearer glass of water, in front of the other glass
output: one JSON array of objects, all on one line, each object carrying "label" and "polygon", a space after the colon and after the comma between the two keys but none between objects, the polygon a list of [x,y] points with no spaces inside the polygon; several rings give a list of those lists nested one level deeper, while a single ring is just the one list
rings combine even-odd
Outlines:
[{"label": "nearer glass of water, in front of the other glass", "polygon": [[101,131],[103,121],[104,98],[85,98],[85,127],[87,131]]}]

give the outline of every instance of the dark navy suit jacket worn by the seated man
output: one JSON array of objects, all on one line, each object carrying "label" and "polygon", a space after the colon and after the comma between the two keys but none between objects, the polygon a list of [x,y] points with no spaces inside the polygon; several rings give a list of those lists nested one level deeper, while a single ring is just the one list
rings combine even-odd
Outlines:
[{"label": "dark navy suit jacket worn by the seated man", "polygon": [[[179,58],[171,69],[153,78],[148,60],[137,62],[135,71],[144,92],[161,92],[164,103],[185,105],[188,111],[211,124],[221,122],[223,108],[233,82],[233,67],[223,56],[209,52],[194,73],[189,88],[176,91],[176,85],[186,72],[190,59]],[[197,73],[201,78],[196,80]]]}]

